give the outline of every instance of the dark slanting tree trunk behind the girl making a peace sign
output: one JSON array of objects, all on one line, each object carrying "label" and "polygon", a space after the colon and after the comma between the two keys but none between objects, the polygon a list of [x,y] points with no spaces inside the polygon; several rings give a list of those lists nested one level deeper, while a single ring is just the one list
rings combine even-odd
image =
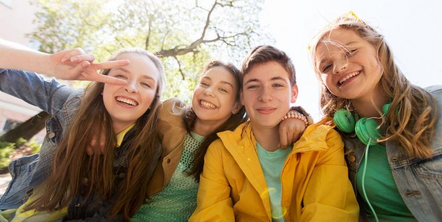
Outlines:
[{"label": "dark slanting tree trunk behind the girl making a peace sign", "polygon": [[46,120],[48,120],[50,117],[51,114],[41,111],[39,114],[31,117],[29,120],[26,120],[16,128],[5,133],[0,137],[0,141],[15,143],[20,137],[29,140],[45,127]]}]

